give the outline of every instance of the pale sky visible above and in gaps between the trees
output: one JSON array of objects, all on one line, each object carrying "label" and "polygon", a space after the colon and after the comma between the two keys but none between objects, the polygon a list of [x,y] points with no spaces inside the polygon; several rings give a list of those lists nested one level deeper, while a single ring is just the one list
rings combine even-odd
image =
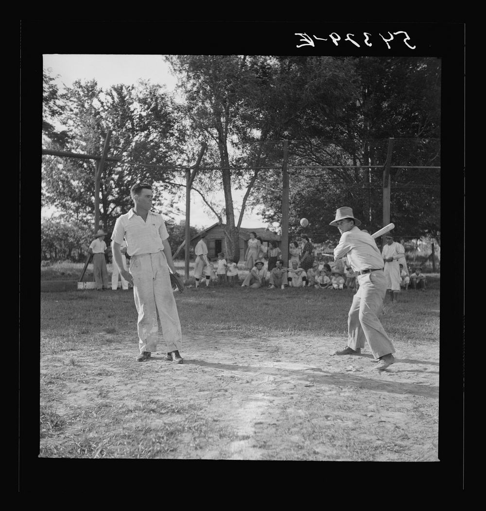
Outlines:
[{"label": "pale sky visible above and in gaps between the trees", "polygon": [[[75,80],[95,79],[102,88],[124,83],[135,84],[138,80],[150,80],[153,83],[165,85],[168,90],[173,90],[176,79],[170,72],[170,66],[161,55],[44,55],[44,69],[50,68],[51,76],[56,78],[56,85],[61,91],[64,85],[70,87]],[[235,214],[239,215],[244,191],[234,191],[233,201]],[[182,211],[186,210],[184,202],[179,204]],[[52,208],[42,211],[43,216],[50,216]],[[183,217],[182,217],[183,219]],[[236,218],[238,220],[238,218]],[[214,215],[204,211],[204,205],[199,194],[191,194],[191,225],[196,227],[208,227],[217,222]],[[242,227],[257,228],[266,227],[258,215],[247,211]]]}]

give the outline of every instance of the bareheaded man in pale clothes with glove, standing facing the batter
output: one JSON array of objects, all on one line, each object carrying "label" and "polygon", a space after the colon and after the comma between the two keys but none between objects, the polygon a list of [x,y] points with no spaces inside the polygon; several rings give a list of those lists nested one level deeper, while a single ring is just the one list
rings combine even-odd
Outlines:
[{"label": "bareheaded man in pale clothes with glove, standing facing the batter", "polygon": [[[113,240],[113,261],[120,274],[133,285],[133,297],[138,312],[137,331],[140,355],[137,361],[150,359],[157,347],[158,321],[167,344],[165,360],[182,364],[181,330],[169,269],[177,274],[169,234],[161,215],[150,211],[152,187],[148,183],[134,184],[130,189],[134,207],[120,216],[115,223]],[[121,243],[127,242],[130,255],[129,272],[122,262]]]}]

